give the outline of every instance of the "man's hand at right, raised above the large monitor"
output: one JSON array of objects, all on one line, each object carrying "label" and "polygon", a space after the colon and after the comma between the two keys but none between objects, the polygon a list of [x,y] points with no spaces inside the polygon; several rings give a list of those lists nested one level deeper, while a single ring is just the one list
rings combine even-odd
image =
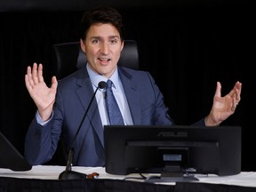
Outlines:
[{"label": "man's hand at right, raised above the large monitor", "polygon": [[205,118],[206,126],[219,125],[236,111],[236,106],[241,100],[242,84],[237,81],[233,89],[221,97],[221,84],[217,82],[216,92],[213,97],[212,110]]}]

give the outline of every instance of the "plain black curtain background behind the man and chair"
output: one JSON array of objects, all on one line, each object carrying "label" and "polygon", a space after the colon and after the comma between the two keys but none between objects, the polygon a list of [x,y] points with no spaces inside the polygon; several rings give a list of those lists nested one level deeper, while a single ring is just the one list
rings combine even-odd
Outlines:
[{"label": "plain black curtain background behind the man and chair", "polygon": [[236,113],[222,125],[242,126],[242,171],[256,171],[255,11],[249,1],[2,0],[0,131],[23,153],[36,112],[24,83],[27,66],[42,62],[50,82],[56,66],[52,44],[78,41],[82,12],[106,4],[122,13],[125,38],[137,41],[140,68],[155,77],[177,124],[192,124],[210,112],[217,81],[222,95],[242,82]]}]

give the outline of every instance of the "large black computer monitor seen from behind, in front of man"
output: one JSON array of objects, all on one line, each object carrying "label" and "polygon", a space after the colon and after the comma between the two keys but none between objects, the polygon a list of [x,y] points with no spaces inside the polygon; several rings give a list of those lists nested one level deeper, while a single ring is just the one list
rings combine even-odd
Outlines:
[{"label": "large black computer monitor seen from behind, in front of man", "polygon": [[240,126],[104,126],[106,172],[196,173],[241,172]]}]

